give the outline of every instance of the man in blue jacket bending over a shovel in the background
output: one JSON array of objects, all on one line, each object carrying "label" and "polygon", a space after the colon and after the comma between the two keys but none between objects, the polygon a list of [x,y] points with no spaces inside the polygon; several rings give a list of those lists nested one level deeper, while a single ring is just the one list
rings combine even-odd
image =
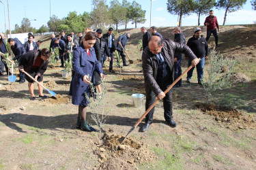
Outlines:
[{"label": "man in blue jacket bending over a shovel in the background", "polygon": [[[123,59],[123,65],[124,66],[129,66],[127,63],[126,63],[126,55],[124,54],[124,50],[126,50],[126,44],[127,44],[127,41],[130,37],[130,33],[126,33],[124,35],[121,35],[119,38],[118,38],[118,42],[117,42],[117,52],[119,53],[119,56],[122,56],[122,59]],[[124,50],[122,49],[122,47],[120,46],[120,44],[123,46]],[[121,67],[121,65],[118,65],[118,67]]]}]

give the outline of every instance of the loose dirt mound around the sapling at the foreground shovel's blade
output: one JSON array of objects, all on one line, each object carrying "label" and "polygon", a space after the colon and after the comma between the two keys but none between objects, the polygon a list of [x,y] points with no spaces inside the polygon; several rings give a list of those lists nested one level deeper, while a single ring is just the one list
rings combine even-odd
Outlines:
[{"label": "loose dirt mound around the sapling at the foreground shovel's blade", "polygon": [[137,164],[150,162],[156,159],[156,155],[148,146],[127,137],[123,145],[124,136],[106,134],[104,143],[96,151],[100,169],[134,169]]}]

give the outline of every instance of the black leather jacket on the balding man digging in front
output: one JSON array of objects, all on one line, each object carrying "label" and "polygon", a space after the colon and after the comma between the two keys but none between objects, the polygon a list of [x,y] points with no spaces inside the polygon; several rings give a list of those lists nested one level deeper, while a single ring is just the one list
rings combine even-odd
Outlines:
[{"label": "black leather jacket on the balding man digging in front", "polygon": [[[186,46],[185,44],[179,44],[177,42],[171,41],[170,39],[162,39],[162,47],[161,53],[162,56],[165,58],[165,62],[171,69],[172,73],[172,80],[174,81],[174,53],[175,52],[182,52],[186,54],[191,60],[197,58],[195,54]],[[156,75],[158,69],[158,60],[155,54],[150,52],[150,48],[147,46],[142,53],[142,68],[145,80],[145,90],[149,92],[152,90],[156,95],[158,95],[162,90],[158,86],[156,82]]]}]

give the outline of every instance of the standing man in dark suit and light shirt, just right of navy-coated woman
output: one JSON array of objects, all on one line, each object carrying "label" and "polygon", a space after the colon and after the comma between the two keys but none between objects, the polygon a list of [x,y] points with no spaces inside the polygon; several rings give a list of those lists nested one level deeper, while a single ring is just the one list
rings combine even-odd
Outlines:
[{"label": "standing man in dark suit and light shirt, just right of navy-coated woman", "polygon": [[[109,62],[109,72],[115,73],[113,71],[113,52],[116,50],[115,48],[115,35],[113,35],[113,28],[109,28],[108,33],[105,33],[103,35],[103,38],[106,40],[106,44],[109,48],[109,54],[110,54],[110,62]],[[104,53],[104,58],[106,58],[106,53]]]}]

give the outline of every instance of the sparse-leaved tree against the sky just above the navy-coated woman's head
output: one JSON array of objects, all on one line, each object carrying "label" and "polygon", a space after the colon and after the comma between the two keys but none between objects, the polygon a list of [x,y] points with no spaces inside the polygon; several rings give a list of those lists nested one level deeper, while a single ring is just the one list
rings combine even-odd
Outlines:
[{"label": "sparse-leaved tree against the sky just above the navy-coated woman's head", "polygon": [[91,19],[94,27],[104,29],[110,24],[109,7],[106,0],[92,0],[93,10],[91,12]]}]

